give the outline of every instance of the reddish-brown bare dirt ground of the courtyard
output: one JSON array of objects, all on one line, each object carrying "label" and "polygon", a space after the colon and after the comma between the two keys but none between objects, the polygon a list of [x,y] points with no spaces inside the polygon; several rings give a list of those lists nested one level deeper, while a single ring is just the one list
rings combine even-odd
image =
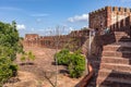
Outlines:
[{"label": "reddish-brown bare dirt ground of the courtyard", "polygon": [[16,82],[11,82],[4,87],[53,87],[57,79],[57,87],[74,87],[81,78],[70,78],[67,67],[58,66],[56,76],[56,65],[53,54],[56,49],[48,48],[24,48],[25,51],[32,51],[35,60],[29,64],[24,64],[17,54],[19,74]]}]

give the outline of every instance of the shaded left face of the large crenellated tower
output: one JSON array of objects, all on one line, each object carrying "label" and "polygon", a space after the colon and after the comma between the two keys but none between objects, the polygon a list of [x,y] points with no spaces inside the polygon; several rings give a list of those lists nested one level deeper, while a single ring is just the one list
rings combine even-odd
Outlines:
[{"label": "shaded left face of the large crenellated tower", "polygon": [[90,28],[105,28],[110,25],[110,7],[99,9],[90,13]]}]

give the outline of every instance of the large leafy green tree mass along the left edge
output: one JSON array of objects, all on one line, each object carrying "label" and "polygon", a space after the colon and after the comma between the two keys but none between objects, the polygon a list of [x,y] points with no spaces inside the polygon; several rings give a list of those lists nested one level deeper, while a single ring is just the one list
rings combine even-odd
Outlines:
[{"label": "large leafy green tree mass along the left edge", "polygon": [[16,75],[17,65],[13,61],[19,52],[23,52],[23,48],[16,23],[14,21],[12,24],[0,22],[0,86]]}]

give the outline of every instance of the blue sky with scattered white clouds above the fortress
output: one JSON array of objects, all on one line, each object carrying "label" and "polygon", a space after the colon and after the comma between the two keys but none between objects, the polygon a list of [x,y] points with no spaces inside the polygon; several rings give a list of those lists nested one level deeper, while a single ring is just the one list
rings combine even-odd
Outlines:
[{"label": "blue sky with scattered white clouds above the fortress", "polygon": [[61,34],[88,27],[88,13],[110,7],[131,8],[131,0],[0,0],[0,21],[16,22],[20,36]]}]

